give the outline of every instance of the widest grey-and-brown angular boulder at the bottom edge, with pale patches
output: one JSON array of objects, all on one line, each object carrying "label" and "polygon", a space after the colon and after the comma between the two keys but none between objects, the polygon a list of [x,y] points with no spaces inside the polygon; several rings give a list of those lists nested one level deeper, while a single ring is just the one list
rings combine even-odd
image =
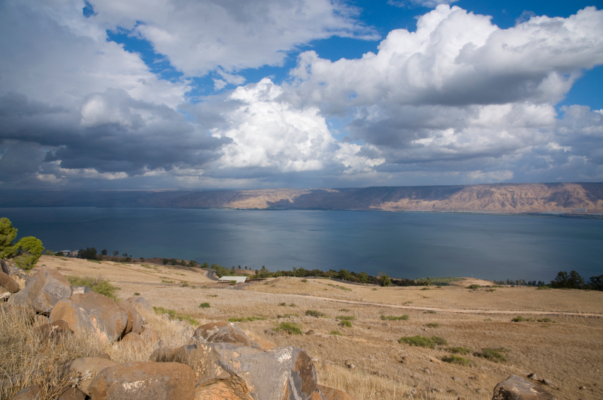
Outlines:
[{"label": "widest grey-and-brown angular boulder at the bottom edge, with pale patches", "polygon": [[255,400],[309,400],[317,382],[310,356],[293,346],[261,351],[231,343],[201,343],[160,348],[150,359],[183,362],[195,372],[198,387],[223,381],[221,391],[246,393]]}]

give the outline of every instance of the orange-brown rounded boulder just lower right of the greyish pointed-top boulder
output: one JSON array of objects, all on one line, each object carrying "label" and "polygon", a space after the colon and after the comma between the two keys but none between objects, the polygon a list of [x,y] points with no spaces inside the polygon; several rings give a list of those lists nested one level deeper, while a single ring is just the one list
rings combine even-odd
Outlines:
[{"label": "orange-brown rounded boulder just lower right of the greyish pointed-top boulder", "polygon": [[128,313],[102,294],[74,294],[70,299],[59,301],[52,309],[50,323],[60,319],[67,322],[71,330],[90,330],[113,343],[123,335]]}]

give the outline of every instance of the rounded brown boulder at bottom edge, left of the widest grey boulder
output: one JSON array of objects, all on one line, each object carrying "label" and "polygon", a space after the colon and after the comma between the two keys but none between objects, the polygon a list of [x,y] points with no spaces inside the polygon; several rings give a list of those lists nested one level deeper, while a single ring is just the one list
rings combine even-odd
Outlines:
[{"label": "rounded brown boulder at bottom edge, left of the widest grey boulder", "polygon": [[193,400],[195,374],[179,362],[128,362],[102,370],[88,391],[93,400]]}]

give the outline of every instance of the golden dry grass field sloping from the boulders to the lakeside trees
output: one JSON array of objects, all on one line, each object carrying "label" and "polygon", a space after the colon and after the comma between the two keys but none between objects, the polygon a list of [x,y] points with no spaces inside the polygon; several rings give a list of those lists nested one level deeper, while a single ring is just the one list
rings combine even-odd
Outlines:
[{"label": "golden dry grass field sloping from the boulders to the lakeside trees", "polygon": [[[490,399],[497,382],[529,372],[550,379],[554,387],[547,389],[558,399],[603,399],[600,291],[466,289],[463,282],[441,288],[382,288],[300,278],[232,287],[186,267],[48,256],[38,265],[65,275],[104,277],[120,287],[123,299],[140,293],[153,306],[188,314],[199,323],[264,318],[237,326],[252,339],[305,349],[315,359],[320,383],[359,400]],[[200,308],[205,302],[210,307]],[[322,315],[308,316],[308,310]],[[404,315],[407,320],[381,318]],[[349,317],[351,326],[342,326],[340,316]],[[512,322],[517,316],[532,321]],[[274,331],[282,322],[298,324],[303,335]],[[423,348],[398,342],[415,335],[437,336],[447,344]],[[466,352],[456,355],[469,365],[442,362],[452,348]],[[477,355],[484,349],[496,350],[505,360]],[[346,360],[354,368],[346,367]]]}]

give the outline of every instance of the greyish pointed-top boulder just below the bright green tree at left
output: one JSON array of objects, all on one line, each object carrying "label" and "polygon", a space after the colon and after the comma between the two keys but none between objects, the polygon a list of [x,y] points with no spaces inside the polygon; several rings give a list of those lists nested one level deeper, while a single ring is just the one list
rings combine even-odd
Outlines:
[{"label": "greyish pointed-top boulder just below the bright green tree at left", "polygon": [[14,294],[9,304],[32,306],[38,313],[50,313],[62,299],[71,296],[71,284],[62,274],[47,267],[41,267],[38,274],[31,275],[25,289]]}]

